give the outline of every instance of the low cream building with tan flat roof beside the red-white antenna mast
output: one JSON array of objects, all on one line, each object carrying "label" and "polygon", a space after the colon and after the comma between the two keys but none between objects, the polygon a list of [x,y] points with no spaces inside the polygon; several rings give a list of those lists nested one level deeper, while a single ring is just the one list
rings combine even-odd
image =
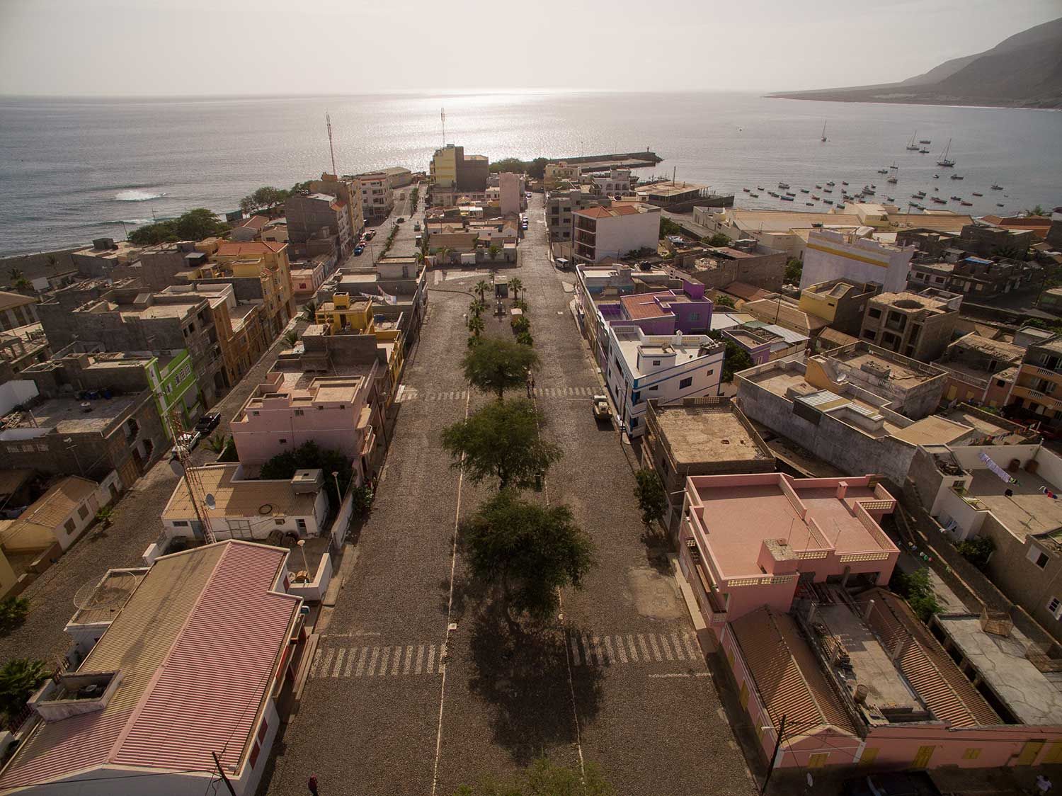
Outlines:
[{"label": "low cream building with tan flat roof beside the red-white antenna mast", "polygon": [[192,468],[198,507],[192,504],[188,475],[182,476],[162,510],[158,547],[167,549],[178,538],[202,542],[207,531],[216,540],[277,542],[327,531],[324,471],[298,470],[291,478],[251,479],[244,477],[244,465],[238,462]]}]

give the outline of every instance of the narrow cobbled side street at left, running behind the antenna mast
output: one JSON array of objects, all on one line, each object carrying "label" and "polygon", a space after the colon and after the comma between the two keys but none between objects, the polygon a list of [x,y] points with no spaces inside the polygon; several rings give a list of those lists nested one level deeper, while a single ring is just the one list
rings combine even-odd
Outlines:
[{"label": "narrow cobbled side street at left, running behind the antenna mast", "polygon": [[[227,431],[228,421],[285,345],[282,340],[277,340],[244,378],[210,409],[222,414],[219,430]],[[217,454],[203,443],[195,448],[192,458],[196,464],[205,464],[217,458]],[[90,527],[73,547],[22,592],[22,596],[30,599],[30,614],[21,627],[0,638],[0,662],[8,658],[57,661],[67,651],[70,637],[63,628],[75,610],[74,594],[85,583],[99,580],[108,569],[143,565],[143,552],[158,539],[159,515],[176,485],[177,476],[170,469],[168,457],[164,456],[121,496],[110,527]]]}]

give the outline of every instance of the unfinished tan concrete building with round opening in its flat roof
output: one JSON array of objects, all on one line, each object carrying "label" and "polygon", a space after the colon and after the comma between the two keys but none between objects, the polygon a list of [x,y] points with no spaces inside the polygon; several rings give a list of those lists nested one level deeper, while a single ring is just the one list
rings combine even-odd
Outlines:
[{"label": "unfinished tan concrete building with round opening in its flat roof", "polygon": [[907,291],[869,300],[859,337],[911,359],[932,361],[948,343],[959,318],[961,297],[941,300]]}]

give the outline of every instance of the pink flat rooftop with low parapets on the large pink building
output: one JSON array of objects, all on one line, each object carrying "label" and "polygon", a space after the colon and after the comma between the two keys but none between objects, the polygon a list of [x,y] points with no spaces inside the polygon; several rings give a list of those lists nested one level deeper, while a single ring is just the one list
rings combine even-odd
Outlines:
[{"label": "pink flat rooftop with low parapets on the large pink building", "polygon": [[[710,476],[709,476],[710,477]],[[781,476],[778,476],[781,477]],[[800,488],[791,481],[801,503],[826,535],[801,519],[777,481],[751,486],[705,487],[696,484],[704,506],[707,541],[725,577],[760,574],[758,556],[763,542],[785,539],[795,552],[821,549],[836,540],[838,553],[881,549],[877,540],[855,514],[857,501],[876,499],[870,487],[849,487],[844,497],[836,488]]]}]

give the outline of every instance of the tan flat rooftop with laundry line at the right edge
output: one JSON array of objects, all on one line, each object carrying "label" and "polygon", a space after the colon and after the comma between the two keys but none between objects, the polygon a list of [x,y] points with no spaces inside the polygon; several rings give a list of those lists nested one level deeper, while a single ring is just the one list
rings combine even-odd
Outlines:
[{"label": "tan flat rooftop with laundry line at the right edge", "polygon": [[[995,462],[1006,468],[1009,458],[1006,448],[1000,448]],[[1058,486],[1025,470],[1014,473],[1016,484],[1004,484],[995,473],[983,468],[972,471],[972,475],[966,495],[980,501],[1018,539],[1062,527],[1062,501],[1052,499],[1040,491],[1043,487],[1058,493]],[[1004,494],[1008,489],[1013,492],[1009,497]]]}]

